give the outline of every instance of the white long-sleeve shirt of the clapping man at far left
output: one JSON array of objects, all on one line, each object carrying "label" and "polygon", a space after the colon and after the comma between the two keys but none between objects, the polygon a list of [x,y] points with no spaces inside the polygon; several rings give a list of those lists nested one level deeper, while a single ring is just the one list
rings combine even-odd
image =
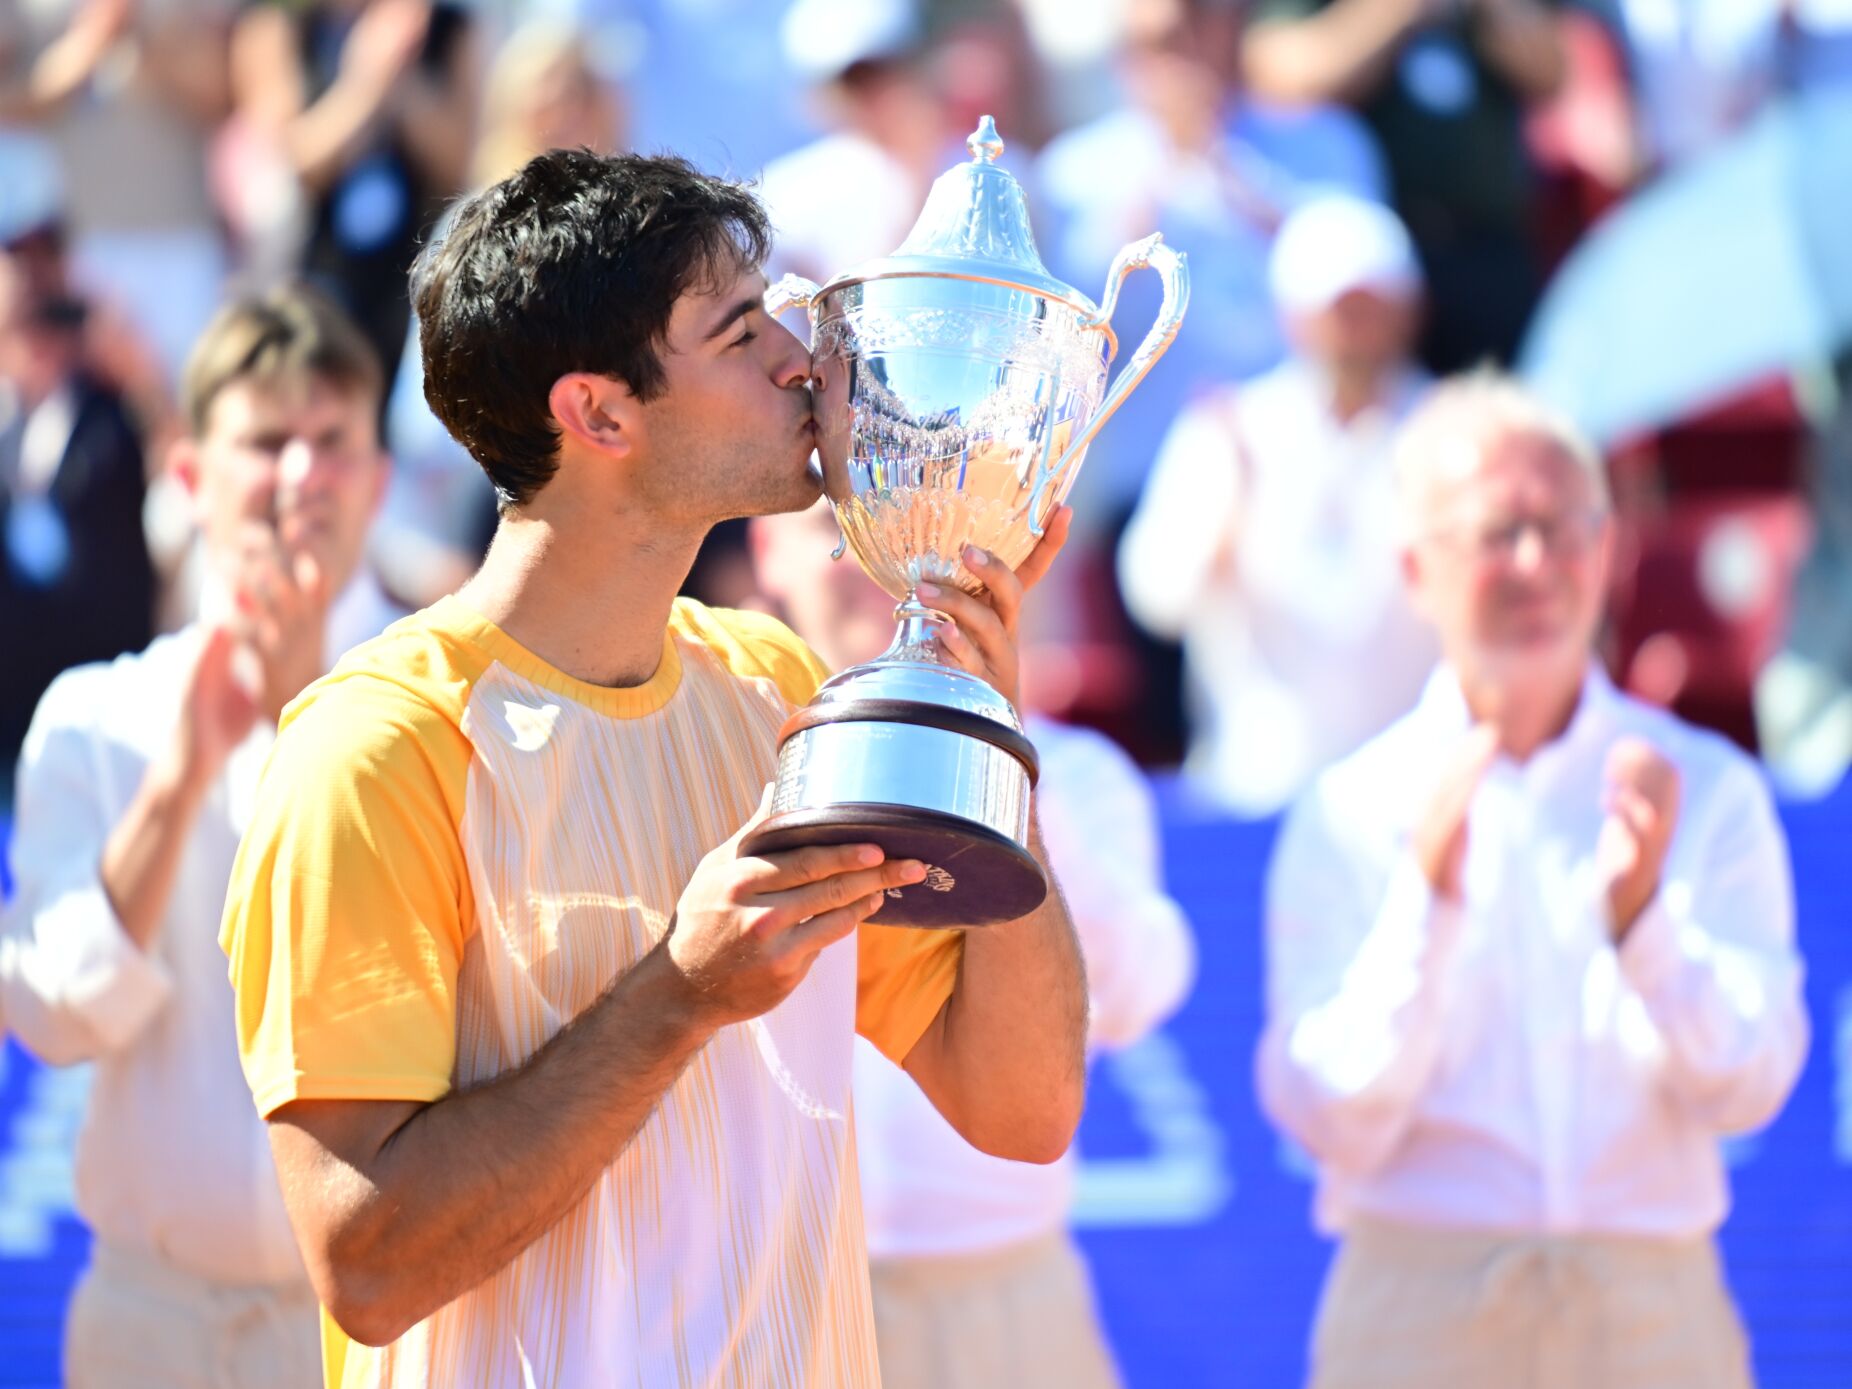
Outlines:
[{"label": "white long-sleeve shirt of the clapping man at far left", "polygon": [[[356,582],[330,613],[330,641],[394,615]],[[148,950],[102,885],[104,843],[172,737],[198,641],[187,628],[67,670],[39,700],[19,765],[17,891],[0,917],[0,1024],[52,1065],[94,1061],[76,1200],[98,1239],[222,1285],[300,1283],[219,948],[276,730],[259,719],[207,793]]]}]

